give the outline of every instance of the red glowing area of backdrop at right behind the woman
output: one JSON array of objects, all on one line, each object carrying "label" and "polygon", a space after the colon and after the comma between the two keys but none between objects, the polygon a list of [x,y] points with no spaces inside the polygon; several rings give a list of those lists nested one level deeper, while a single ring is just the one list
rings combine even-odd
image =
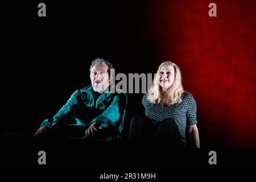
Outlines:
[{"label": "red glowing area of backdrop at right behind the woman", "polygon": [[256,1],[214,1],[217,17],[210,2],[152,3],[151,31],[196,98],[201,143],[256,147]]}]

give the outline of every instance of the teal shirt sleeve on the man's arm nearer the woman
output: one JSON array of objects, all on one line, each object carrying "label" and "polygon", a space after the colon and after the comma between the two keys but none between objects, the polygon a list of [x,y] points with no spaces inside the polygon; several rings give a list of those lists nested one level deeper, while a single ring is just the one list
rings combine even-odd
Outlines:
[{"label": "teal shirt sleeve on the man's arm nearer the woman", "polygon": [[102,114],[94,118],[90,124],[96,122],[102,127],[108,127],[109,125],[116,126],[115,122],[121,121],[125,115],[126,105],[126,94],[117,94],[114,96],[113,101],[109,107]]}]

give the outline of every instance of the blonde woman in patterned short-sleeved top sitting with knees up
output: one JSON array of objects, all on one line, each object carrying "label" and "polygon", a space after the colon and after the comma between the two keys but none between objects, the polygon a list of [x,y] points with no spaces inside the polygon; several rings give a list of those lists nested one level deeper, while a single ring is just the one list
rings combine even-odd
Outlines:
[{"label": "blonde woman in patterned short-sleeved top sitting with knees up", "polygon": [[143,116],[131,119],[130,141],[200,148],[196,101],[184,92],[179,67],[171,61],[160,64],[151,88],[142,98]]}]

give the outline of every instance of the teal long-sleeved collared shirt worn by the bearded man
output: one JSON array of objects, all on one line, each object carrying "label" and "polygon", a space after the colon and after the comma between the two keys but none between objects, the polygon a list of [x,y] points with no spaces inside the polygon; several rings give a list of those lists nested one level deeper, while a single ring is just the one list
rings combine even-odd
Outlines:
[{"label": "teal long-sleeved collared shirt worn by the bearded man", "polygon": [[[76,90],[60,111],[53,118],[44,120],[41,127],[54,122],[89,127],[92,122],[96,122],[101,127],[111,127],[117,134],[117,138],[121,139],[126,105],[125,93],[112,93],[111,91],[102,93],[95,103],[93,88],[90,84],[83,89]],[[74,121],[75,123],[72,123]]]}]

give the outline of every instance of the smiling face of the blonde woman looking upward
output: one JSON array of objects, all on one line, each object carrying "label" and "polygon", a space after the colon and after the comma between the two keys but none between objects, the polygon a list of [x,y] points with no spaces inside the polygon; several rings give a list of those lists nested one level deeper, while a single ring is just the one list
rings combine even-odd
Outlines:
[{"label": "smiling face of the blonde woman looking upward", "polygon": [[159,85],[163,90],[168,90],[174,83],[175,71],[172,65],[164,65],[159,72]]}]

